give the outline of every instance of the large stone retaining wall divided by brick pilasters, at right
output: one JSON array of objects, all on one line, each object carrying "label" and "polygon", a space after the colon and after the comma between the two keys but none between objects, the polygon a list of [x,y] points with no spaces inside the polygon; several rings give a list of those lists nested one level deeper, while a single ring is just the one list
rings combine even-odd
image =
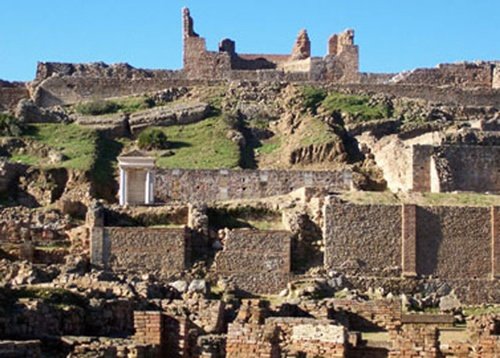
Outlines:
[{"label": "large stone retaining wall divided by brick pilasters, at right", "polygon": [[443,279],[497,276],[497,208],[374,206],[327,200],[324,220],[327,268],[379,277],[396,277],[400,272]]}]

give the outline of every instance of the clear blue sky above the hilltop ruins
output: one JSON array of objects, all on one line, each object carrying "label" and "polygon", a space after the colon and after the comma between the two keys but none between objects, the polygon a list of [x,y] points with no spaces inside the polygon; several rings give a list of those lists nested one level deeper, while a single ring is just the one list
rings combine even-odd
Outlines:
[{"label": "clear blue sky above the hilltop ruins", "polygon": [[2,0],[0,78],[30,80],[37,61],[180,68],[183,6],[212,50],[229,37],[240,52],[289,53],[307,28],[323,56],[351,27],[362,71],[500,59],[500,0]]}]

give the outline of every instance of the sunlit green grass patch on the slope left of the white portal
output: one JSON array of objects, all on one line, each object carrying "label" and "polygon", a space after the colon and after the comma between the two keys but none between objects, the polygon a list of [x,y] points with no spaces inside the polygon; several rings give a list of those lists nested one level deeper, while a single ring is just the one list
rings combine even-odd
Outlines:
[{"label": "sunlit green grass patch on the slope left of the white portal", "polygon": [[[58,167],[89,170],[96,155],[97,132],[77,124],[32,124],[23,137],[40,142],[64,154],[67,159]],[[40,167],[51,167],[46,158],[15,154],[12,161]]]}]

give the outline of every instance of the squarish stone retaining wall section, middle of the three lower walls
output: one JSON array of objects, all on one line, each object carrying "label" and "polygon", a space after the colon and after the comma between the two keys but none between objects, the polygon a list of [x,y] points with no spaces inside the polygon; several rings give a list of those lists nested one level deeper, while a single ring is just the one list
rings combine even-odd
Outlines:
[{"label": "squarish stone retaining wall section, middle of the three lower walls", "polygon": [[231,230],[215,257],[218,274],[251,293],[278,293],[291,271],[288,231]]}]

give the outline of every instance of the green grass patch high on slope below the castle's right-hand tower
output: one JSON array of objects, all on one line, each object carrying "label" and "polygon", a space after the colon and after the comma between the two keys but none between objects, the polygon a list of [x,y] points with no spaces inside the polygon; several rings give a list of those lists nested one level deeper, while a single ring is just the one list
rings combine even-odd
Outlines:
[{"label": "green grass patch high on slope below the castle's right-hand tower", "polygon": [[322,102],[322,107],[329,112],[347,113],[356,120],[366,121],[390,117],[390,109],[382,104],[370,105],[370,97],[330,93]]}]

